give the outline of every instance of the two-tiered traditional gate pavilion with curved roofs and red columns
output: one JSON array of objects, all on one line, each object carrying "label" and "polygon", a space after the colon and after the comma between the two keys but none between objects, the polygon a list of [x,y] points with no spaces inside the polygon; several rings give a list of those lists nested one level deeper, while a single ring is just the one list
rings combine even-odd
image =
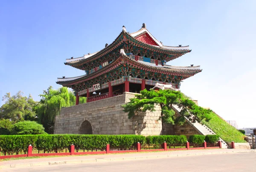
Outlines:
[{"label": "two-tiered traditional gate pavilion with curved roofs and red columns", "polygon": [[110,45],[93,54],[66,60],[65,65],[85,71],[78,77],[58,78],[58,84],[75,91],[87,102],[101,100],[124,92],[151,89],[156,83],[180,88],[180,81],[201,72],[200,66],[178,67],[166,65],[183,54],[191,52],[189,46],[164,46],[146,29],[145,24],[134,33],[122,32]]}]

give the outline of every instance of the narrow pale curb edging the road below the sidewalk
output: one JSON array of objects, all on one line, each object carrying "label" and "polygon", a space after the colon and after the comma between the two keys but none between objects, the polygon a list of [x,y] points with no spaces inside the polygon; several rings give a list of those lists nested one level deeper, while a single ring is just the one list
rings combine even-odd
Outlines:
[{"label": "narrow pale curb edging the road below the sidewalk", "polygon": [[176,154],[176,155],[156,155],[156,156],[143,156],[143,157],[127,157],[127,158],[97,158],[85,160],[70,160],[70,161],[55,161],[55,162],[38,162],[38,163],[16,163],[0,166],[2,168],[15,168],[15,167],[29,167],[29,166],[46,166],[46,165],[59,165],[59,164],[78,164],[78,163],[96,163],[96,162],[110,162],[110,161],[129,161],[129,160],[145,160],[154,158],[172,158],[172,157],[185,157],[197,155],[216,155],[216,154],[233,154],[233,153],[247,153],[256,152],[256,150],[232,151],[232,152],[204,152],[204,153],[190,153],[190,154]]}]

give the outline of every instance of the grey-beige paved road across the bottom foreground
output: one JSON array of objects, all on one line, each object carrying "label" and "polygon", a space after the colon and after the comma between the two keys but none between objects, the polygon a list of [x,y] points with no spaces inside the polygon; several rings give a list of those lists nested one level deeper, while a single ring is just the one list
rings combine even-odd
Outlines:
[{"label": "grey-beige paved road across the bottom foreground", "polygon": [[1,172],[256,172],[256,153],[198,155],[1,169]]}]

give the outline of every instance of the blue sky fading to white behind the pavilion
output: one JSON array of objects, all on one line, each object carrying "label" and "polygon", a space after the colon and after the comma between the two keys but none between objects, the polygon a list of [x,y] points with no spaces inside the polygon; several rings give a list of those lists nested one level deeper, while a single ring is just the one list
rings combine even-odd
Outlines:
[{"label": "blue sky fading to white behind the pavilion", "polygon": [[[0,6],[0,97],[19,90],[38,95],[57,77],[84,72],[65,59],[99,51],[125,25],[142,23],[167,46],[192,52],[169,65],[201,65],[181,91],[239,127],[256,127],[255,0],[2,0]],[[3,101],[0,102],[0,105]]]}]

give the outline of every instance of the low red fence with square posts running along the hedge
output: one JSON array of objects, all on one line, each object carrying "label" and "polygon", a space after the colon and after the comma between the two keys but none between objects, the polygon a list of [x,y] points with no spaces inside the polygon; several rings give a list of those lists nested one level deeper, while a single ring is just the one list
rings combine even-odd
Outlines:
[{"label": "low red fence with square posts running along the hedge", "polygon": [[[18,157],[33,157],[33,156],[55,156],[55,155],[89,155],[89,154],[108,154],[108,153],[125,153],[125,152],[153,152],[153,151],[168,151],[168,150],[188,150],[188,149],[209,149],[209,148],[221,148],[221,142],[218,141],[216,144],[206,143],[204,142],[201,145],[198,144],[143,144],[136,143],[130,148],[121,148],[121,147],[114,147],[110,146],[109,144],[106,145],[105,149],[79,149],[75,145],[70,145],[68,148],[63,148],[59,150],[38,150],[36,147],[28,146],[27,152],[18,152],[23,153],[20,155],[13,155],[14,152],[7,152],[7,154],[0,154],[0,159],[5,158],[18,158]],[[0,150],[1,151],[1,150]],[[9,154],[9,155],[8,155]],[[17,154],[17,152],[16,152]]]}]

